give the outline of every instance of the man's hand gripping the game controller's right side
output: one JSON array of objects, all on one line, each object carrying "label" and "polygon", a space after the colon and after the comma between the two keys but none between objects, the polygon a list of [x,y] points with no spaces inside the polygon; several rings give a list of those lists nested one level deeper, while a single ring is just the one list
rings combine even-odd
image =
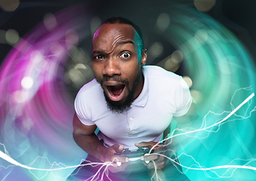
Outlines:
[{"label": "man's hand gripping the game controller's right side", "polygon": [[[155,146],[157,144],[156,147],[154,147],[154,153],[160,153],[162,155],[168,155],[167,153],[167,148],[163,143],[156,143],[156,142],[141,142],[141,143],[135,143],[135,146],[137,147],[147,147],[149,149],[151,149],[153,146]],[[155,164],[156,164],[156,168],[157,169],[162,169],[165,167],[165,164],[168,161],[168,158],[165,158],[164,156],[159,156],[156,154],[150,154],[150,155],[144,155],[140,157],[140,160],[143,161],[143,164],[146,165],[149,169],[153,169],[155,168]],[[148,163],[147,161],[150,161],[150,163]],[[155,164],[153,163],[153,161],[155,162]]]}]

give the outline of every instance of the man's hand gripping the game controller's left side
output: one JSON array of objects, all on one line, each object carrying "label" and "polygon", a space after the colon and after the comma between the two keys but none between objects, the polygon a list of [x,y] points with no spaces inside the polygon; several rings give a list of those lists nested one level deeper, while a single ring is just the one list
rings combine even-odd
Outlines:
[{"label": "man's hand gripping the game controller's left side", "polygon": [[110,146],[109,148],[104,148],[102,151],[102,159],[101,161],[106,162],[113,162],[113,166],[108,166],[108,170],[116,173],[125,170],[125,168],[128,166],[129,158],[122,157],[120,155],[115,155],[116,152],[122,152],[124,149],[124,146],[119,146],[118,144],[114,144],[113,146]]}]

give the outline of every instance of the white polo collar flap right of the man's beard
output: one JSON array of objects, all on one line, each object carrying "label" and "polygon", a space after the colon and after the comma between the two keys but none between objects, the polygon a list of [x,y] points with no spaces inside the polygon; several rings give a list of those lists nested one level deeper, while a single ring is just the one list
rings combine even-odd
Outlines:
[{"label": "white polo collar flap right of the man's beard", "polygon": [[134,106],[146,106],[147,100],[149,98],[149,82],[148,82],[148,77],[147,77],[147,71],[142,67],[142,73],[144,76],[144,84],[143,84],[143,89],[140,92],[140,95],[134,100],[131,105]]}]

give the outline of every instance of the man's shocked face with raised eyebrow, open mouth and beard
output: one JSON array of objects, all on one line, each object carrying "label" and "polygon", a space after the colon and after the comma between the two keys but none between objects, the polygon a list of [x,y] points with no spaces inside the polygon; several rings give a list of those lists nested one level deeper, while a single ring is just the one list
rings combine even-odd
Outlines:
[{"label": "man's shocked face with raised eyebrow, open mouth and beard", "polygon": [[147,54],[141,57],[137,39],[127,24],[103,24],[94,34],[92,68],[113,112],[127,111],[143,88],[141,67]]}]

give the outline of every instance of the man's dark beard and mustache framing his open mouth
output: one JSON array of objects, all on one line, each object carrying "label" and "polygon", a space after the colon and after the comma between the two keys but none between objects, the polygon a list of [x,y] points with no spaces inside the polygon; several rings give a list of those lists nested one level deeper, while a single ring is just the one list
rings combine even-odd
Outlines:
[{"label": "man's dark beard and mustache framing his open mouth", "polygon": [[[120,77],[114,77],[114,78],[103,77],[102,81],[100,81],[101,87],[103,87],[104,81],[111,80],[111,81],[118,81],[122,84],[125,84],[125,87],[128,90],[128,96],[124,97],[124,99],[120,100],[120,101],[110,100],[110,98],[107,96],[106,92],[103,90],[104,97],[106,100],[106,106],[111,112],[116,113],[116,114],[125,114],[126,112],[128,112],[128,110],[131,109],[131,103],[134,101],[134,92],[137,87],[137,83],[140,81],[141,77],[142,77],[142,69],[140,69],[138,74],[135,76],[134,81],[130,81],[130,82],[128,81],[128,78],[121,79]],[[131,90],[128,88],[130,83],[132,85]]]}]

